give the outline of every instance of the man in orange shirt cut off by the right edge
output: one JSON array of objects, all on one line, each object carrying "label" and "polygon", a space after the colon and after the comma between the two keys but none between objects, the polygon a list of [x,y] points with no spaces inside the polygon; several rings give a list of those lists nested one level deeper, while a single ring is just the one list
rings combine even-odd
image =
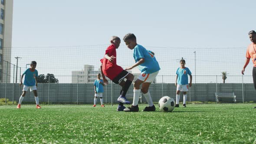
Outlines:
[{"label": "man in orange shirt cut off by the right edge", "polygon": [[[254,88],[256,89],[256,32],[254,30],[251,30],[249,33],[249,38],[251,40],[251,43],[246,50],[246,61],[243,65],[242,74],[244,75],[244,71],[246,66],[248,65],[250,59],[253,61],[253,84]],[[256,108],[256,107],[254,107]]]}]

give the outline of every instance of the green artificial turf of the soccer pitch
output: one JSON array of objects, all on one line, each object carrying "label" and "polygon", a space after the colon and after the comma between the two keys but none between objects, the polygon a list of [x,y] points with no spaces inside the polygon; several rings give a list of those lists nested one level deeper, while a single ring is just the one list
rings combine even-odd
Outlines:
[{"label": "green artificial turf of the soccer pitch", "polygon": [[0,144],[256,144],[255,104],[191,104],[169,113],[105,106],[0,106]]}]

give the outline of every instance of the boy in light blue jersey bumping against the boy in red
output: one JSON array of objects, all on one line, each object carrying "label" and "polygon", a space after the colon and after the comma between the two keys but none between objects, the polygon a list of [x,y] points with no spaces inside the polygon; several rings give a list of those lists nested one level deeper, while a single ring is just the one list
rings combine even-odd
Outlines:
[{"label": "boy in light blue jersey bumping against the boy in red", "polygon": [[[126,34],[123,40],[129,49],[133,49],[133,57],[135,59],[135,64],[125,70],[133,69],[138,66],[138,69],[141,71],[141,75],[139,75],[138,79],[134,83],[132,105],[131,107],[125,108],[124,111],[139,111],[138,101],[140,92],[142,92],[148,102],[148,107],[144,108],[143,111],[155,111],[155,106],[148,91],[151,82],[154,81],[160,70],[160,66],[154,56],[154,52],[148,51],[143,46],[138,45],[136,36],[133,33]],[[142,86],[140,89],[141,84]]]}]

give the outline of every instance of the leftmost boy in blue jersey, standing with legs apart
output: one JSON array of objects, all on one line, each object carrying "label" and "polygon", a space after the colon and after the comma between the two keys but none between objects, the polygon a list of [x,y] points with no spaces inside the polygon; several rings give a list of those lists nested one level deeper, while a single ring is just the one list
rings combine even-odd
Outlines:
[{"label": "leftmost boy in blue jersey, standing with legs apart", "polygon": [[30,63],[30,68],[26,69],[23,74],[21,75],[21,79],[20,79],[20,86],[23,85],[22,83],[22,79],[23,76],[25,75],[25,79],[24,79],[24,86],[23,86],[23,93],[20,96],[20,100],[19,100],[19,104],[17,106],[17,108],[20,108],[21,102],[23,101],[23,98],[26,95],[26,92],[28,91],[28,89],[30,88],[30,92],[33,91],[34,95],[35,95],[35,100],[36,100],[36,108],[41,108],[39,106],[39,99],[37,96],[37,91],[36,91],[36,87],[37,87],[37,76],[38,76],[38,72],[36,70],[36,61],[32,61]]}]

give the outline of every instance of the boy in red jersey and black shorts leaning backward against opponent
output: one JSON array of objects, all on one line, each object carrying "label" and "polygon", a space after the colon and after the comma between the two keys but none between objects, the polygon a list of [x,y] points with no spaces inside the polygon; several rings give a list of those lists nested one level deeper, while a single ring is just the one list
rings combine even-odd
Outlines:
[{"label": "boy in red jersey and black shorts leaning backward against opponent", "polygon": [[[104,84],[108,84],[108,80],[105,78],[105,76],[107,76],[114,83],[121,85],[122,89],[117,99],[119,103],[117,111],[124,111],[124,104],[131,104],[131,102],[125,98],[125,95],[134,79],[134,75],[116,64],[116,49],[120,46],[121,39],[117,36],[112,36],[110,43],[111,45],[106,49],[104,58],[101,59],[102,79]],[[126,79],[126,81],[124,81],[124,79]]]}]

